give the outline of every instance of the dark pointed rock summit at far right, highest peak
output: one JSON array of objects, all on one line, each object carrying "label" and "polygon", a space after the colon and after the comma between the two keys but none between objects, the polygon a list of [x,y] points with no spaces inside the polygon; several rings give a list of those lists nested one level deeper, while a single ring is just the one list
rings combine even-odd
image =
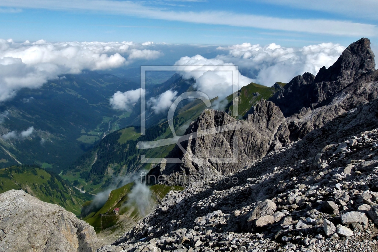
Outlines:
[{"label": "dark pointed rock summit at far right, highest peak", "polygon": [[327,69],[323,66],[314,82],[352,82],[362,74],[374,70],[374,53],[370,48],[370,40],[362,38],[350,44],[332,66]]}]

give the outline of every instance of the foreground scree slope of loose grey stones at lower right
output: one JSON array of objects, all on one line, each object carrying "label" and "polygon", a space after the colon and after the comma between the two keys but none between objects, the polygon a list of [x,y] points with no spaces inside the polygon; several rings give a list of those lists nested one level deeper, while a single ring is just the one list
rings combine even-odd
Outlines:
[{"label": "foreground scree slope of loose grey stones at lower right", "polygon": [[356,108],[233,174],[237,184],[170,192],[98,252],[376,251],[377,113],[376,101]]}]

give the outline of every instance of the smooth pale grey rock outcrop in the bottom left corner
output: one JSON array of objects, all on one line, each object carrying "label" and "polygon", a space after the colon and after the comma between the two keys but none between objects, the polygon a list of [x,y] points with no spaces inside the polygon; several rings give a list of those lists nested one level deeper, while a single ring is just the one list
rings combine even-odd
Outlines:
[{"label": "smooth pale grey rock outcrop in the bottom left corner", "polygon": [[92,252],[95,230],[73,213],[25,193],[0,194],[1,252]]}]

